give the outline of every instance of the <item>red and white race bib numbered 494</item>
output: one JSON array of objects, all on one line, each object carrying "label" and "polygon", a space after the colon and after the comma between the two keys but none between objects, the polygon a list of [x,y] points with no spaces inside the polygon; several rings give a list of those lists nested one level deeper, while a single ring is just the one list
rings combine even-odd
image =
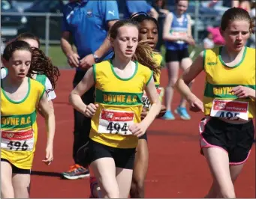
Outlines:
[{"label": "red and white race bib numbered 494", "polygon": [[103,109],[100,114],[98,132],[119,135],[131,135],[129,125],[134,123],[133,111]]}]

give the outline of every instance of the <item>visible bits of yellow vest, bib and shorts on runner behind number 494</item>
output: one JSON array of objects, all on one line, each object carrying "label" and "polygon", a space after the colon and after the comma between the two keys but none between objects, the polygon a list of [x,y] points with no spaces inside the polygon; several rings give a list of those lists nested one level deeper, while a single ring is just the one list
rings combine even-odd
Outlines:
[{"label": "visible bits of yellow vest, bib and shorts on runner behind number 494", "polygon": [[[154,52],[153,58],[155,60],[155,63],[158,64],[158,66],[162,65],[163,57],[162,57],[162,55],[160,53]],[[162,98],[164,96],[164,88],[159,87],[159,85],[160,85],[160,76],[161,76],[161,73],[158,73],[155,76],[155,87],[156,87],[156,89],[158,91],[160,100],[162,101]],[[148,108],[149,109],[150,107],[151,107],[151,104],[150,104],[149,98],[146,96],[146,92],[144,92],[143,93],[143,108]],[[140,136],[139,139],[145,139],[147,141],[146,133],[144,135]]]}]

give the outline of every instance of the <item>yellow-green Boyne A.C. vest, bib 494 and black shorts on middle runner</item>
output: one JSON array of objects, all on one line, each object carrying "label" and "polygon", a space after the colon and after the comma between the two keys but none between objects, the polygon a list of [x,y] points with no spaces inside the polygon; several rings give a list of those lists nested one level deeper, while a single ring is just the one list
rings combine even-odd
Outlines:
[{"label": "yellow-green Boyne A.C. vest, bib 494 and black shorts on middle runner", "polygon": [[99,107],[92,117],[89,138],[89,162],[113,157],[116,167],[132,169],[138,138],[128,126],[140,123],[142,96],[152,78],[152,71],[134,63],[134,75],[120,78],[111,60],[93,65],[95,103]]}]

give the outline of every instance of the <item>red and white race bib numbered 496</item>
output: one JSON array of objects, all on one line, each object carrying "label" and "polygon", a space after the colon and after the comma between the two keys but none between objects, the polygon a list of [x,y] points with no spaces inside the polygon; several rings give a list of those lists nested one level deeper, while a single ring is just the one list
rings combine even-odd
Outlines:
[{"label": "red and white race bib numbered 496", "polygon": [[32,129],[23,132],[2,131],[1,148],[12,151],[32,151],[34,133]]}]

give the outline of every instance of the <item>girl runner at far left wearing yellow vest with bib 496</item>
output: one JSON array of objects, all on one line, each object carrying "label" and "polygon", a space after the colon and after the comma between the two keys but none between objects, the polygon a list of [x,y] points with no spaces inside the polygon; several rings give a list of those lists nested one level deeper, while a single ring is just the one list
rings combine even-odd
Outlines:
[{"label": "girl runner at far left wearing yellow vest with bib 496", "polygon": [[1,84],[1,192],[2,198],[29,198],[30,172],[38,138],[36,108],[48,126],[47,165],[53,161],[55,117],[44,86],[27,77],[33,70],[32,48],[24,41],[6,46],[3,63],[8,75]]}]

